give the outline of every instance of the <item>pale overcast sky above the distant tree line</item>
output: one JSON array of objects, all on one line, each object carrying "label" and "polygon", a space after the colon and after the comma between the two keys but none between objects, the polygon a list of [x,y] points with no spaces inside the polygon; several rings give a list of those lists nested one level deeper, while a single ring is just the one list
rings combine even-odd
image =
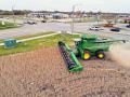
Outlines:
[{"label": "pale overcast sky above the distant tree line", "polygon": [[0,0],[0,10],[72,11],[79,3],[76,10],[130,13],[130,0]]}]

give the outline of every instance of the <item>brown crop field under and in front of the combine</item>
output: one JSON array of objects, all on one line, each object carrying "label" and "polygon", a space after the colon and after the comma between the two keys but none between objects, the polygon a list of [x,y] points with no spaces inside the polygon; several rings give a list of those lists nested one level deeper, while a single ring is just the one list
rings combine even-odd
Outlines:
[{"label": "brown crop field under and in front of the combine", "polygon": [[70,73],[58,47],[0,57],[0,97],[130,97],[130,69],[109,59],[81,60]]}]

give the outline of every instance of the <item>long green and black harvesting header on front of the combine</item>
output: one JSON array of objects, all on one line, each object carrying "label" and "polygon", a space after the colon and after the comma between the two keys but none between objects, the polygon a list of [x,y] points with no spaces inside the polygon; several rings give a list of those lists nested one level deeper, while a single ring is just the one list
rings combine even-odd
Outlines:
[{"label": "long green and black harvesting header on front of the combine", "polygon": [[80,65],[80,63],[78,61],[77,57],[75,56],[74,52],[69,48],[69,46],[61,41],[58,42],[58,46],[68,70],[70,72],[81,71],[83,67]]}]

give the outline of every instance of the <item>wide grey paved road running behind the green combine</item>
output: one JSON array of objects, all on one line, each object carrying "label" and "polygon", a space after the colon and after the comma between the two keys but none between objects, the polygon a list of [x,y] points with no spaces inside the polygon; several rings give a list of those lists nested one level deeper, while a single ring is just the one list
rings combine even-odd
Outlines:
[{"label": "wide grey paved road running behind the green combine", "polygon": [[[112,32],[109,29],[105,29],[103,31],[89,31],[88,28],[96,23],[78,23],[75,24],[75,31],[77,32],[86,32],[86,33],[95,33],[95,34],[104,34],[109,36],[115,39],[129,39],[130,40],[130,31],[122,30],[120,32]],[[47,24],[37,24],[37,25],[25,25],[21,28],[0,30],[0,39],[6,39],[12,37],[21,37],[25,34],[34,34],[38,32],[46,31],[70,31],[70,24],[64,23],[47,23]]]}]

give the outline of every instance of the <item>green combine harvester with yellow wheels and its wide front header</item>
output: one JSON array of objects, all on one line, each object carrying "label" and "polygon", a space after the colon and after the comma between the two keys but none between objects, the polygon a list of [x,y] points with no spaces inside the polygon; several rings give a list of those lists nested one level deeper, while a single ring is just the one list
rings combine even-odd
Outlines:
[{"label": "green combine harvester with yellow wheels and its wide front header", "polygon": [[105,52],[108,52],[109,45],[119,41],[122,41],[123,43],[126,42],[126,40],[100,39],[98,36],[83,34],[80,39],[75,40],[76,53],[74,53],[69,46],[62,41],[58,42],[58,46],[68,70],[70,72],[76,72],[83,69],[76,56],[80,56],[84,60],[89,60],[94,56],[104,59]]}]

